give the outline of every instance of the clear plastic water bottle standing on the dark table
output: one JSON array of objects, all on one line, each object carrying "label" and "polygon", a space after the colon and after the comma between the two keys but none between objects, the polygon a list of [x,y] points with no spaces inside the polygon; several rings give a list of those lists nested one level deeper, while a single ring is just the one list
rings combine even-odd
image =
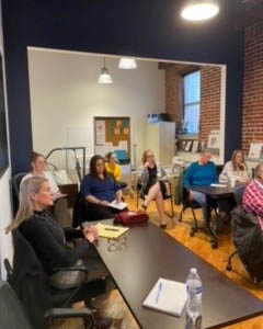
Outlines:
[{"label": "clear plastic water bottle standing on the dark table", "polygon": [[202,329],[202,281],[196,269],[191,269],[186,279],[185,329]]}]

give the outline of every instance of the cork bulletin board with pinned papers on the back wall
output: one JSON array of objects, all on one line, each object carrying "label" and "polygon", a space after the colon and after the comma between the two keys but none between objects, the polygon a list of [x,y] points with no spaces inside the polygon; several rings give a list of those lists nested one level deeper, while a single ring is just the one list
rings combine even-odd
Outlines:
[{"label": "cork bulletin board with pinned papers on the back wall", "polygon": [[94,117],[94,151],[105,156],[125,150],[130,159],[130,118],[127,116]]}]

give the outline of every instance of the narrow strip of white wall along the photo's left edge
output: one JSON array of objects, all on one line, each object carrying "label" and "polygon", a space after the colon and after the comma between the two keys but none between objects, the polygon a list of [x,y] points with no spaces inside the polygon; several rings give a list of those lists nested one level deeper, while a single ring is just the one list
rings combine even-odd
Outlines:
[{"label": "narrow strip of white wall along the photo's left edge", "polygon": [[[2,55],[3,61],[3,84],[4,84],[4,94],[5,91],[5,75],[4,75],[4,59],[3,59],[3,39],[2,39],[2,18],[1,18],[1,3],[0,3],[0,53]],[[8,104],[5,99],[5,114],[8,123]],[[7,124],[8,126],[8,124]],[[8,129],[8,144],[9,144],[9,129]],[[9,156],[10,158],[10,156]],[[11,263],[13,259],[13,243],[12,237],[9,234],[4,234],[4,228],[12,220],[12,208],[11,208],[11,169],[10,167],[5,170],[3,175],[0,178],[0,277],[5,279],[5,270],[3,266],[3,259],[8,258]]]}]

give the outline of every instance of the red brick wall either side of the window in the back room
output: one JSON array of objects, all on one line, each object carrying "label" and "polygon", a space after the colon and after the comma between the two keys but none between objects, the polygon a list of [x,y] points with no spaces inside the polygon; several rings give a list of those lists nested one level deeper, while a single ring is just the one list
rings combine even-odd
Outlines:
[{"label": "red brick wall either side of the window in the back room", "polygon": [[[183,78],[179,73],[185,66],[165,69],[165,112],[178,125],[183,113]],[[207,141],[211,129],[220,128],[220,79],[219,67],[201,68],[201,132],[199,140]]]}]

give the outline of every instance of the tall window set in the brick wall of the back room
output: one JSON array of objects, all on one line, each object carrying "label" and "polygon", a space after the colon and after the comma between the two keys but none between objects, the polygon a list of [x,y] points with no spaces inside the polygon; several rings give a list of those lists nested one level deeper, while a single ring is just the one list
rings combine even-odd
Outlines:
[{"label": "tall window set in the brick wall of the back room", "polygon": [[187,134],[199,133],[201,71],[184,76],[183,79],[183,128]]}]

